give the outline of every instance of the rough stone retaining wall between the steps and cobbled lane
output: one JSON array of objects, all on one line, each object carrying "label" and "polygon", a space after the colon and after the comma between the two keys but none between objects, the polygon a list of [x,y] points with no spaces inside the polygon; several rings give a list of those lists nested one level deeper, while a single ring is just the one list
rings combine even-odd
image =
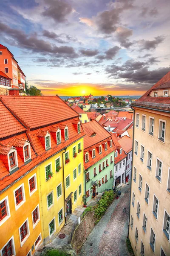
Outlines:
[{"label": "rough stone retaining wall between the steps and cobbled lane", "polygon": [[91,230],[94,228],[95,221],[96,218],[94,218],[94,212],[88,212],[80,222],[79,226],[74,230],[71,244],[76,253],[82,247],[85,240],[91,233]]}]

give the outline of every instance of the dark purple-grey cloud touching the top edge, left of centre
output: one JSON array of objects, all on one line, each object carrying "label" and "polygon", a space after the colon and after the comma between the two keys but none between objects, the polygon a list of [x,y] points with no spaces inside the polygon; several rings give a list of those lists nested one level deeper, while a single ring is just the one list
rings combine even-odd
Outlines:
[{"label": "dark purple-grey cloud touching the top edge, left of centre", "polygon": [[65,22],[67,15],[73,11],[72,6],[63,0],[45,0],[45,4],[42,15],[53,18],[59,23]]}]

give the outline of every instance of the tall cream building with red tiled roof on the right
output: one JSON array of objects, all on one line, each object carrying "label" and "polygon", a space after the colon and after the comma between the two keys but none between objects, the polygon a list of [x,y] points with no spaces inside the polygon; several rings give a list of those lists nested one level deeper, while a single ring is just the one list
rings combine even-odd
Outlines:
[{"label": "tall cream building with red tiled roof on the right", "polygon": [[136,256],[170,256],[170,72],[132,108],[129,239]]}]

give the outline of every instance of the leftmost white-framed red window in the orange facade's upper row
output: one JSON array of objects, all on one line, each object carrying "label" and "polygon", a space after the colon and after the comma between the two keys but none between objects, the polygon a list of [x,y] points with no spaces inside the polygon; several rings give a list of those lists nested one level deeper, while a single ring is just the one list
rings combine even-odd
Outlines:
[{"label": "leftmost white-framed red window in the orange facade's upper row", "polygon": [[0,200],[0,226],[11,216],[8,196]]}]

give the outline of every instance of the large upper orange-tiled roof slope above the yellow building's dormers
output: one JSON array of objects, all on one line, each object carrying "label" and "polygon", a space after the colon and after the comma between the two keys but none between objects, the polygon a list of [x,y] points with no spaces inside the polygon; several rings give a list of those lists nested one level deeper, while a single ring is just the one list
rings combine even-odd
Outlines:
[{"label": "large upper orange-tiled roof slope above the yellow building's dormers", "polygon": [[0,101],[30,129],[78,116],[59,96],[0,96]]}]

